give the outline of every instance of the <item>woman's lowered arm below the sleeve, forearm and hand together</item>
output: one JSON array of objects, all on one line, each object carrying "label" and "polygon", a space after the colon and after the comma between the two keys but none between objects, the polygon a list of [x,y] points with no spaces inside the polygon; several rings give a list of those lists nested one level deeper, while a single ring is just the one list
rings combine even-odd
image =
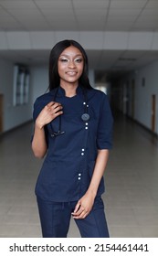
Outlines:
[{"label": "woman's lowered arm below the sleeve, forearm and hand together", "polygon": [[90,213],[100,185],[100,179],[104,174],[108,162],[108,158],[108,149],[101,149],[98,151],[98,156],[96,159],[93,175],[91,177],[90,186],[86,194],[79,199],[76,208],[72,213],[74,219],[84,219]]}]

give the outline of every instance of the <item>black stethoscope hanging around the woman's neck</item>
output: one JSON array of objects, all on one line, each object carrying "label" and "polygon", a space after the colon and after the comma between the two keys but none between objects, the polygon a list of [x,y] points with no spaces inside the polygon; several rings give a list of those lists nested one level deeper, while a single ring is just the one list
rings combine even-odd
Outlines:
[{"label": "black stethoscope hanging around the woman's neck", "polygon": [[[83,105],[84,105],[84,113],[81,115],[81,120],[83,122],[88,122],[90,120],[90,114],[88,113],[88,99],[87,99],[87,91],[85,89],[82,89],[83,91],[83,97],[84,97],[84,102],[83,102]],[[56,98],[57,98],[57,94],[58,94],[58,89],[57,91],[55,92],[55,95],[54,95],[54,101],[56,101]],[[61,131],[61,115],[58,116],[59,120],[58,120],[58,132],[55,132],[53,127],[52,127],[52,123],[50,123],[50,127],[51,127],[51,137],[57,137],[58,135],[62,135],[64,134],[65,132],[64,131]]]}]

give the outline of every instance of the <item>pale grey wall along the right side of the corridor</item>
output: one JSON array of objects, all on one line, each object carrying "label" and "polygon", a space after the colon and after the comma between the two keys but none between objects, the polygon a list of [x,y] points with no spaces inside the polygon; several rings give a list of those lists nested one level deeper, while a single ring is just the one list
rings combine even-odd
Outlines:
[{"label": "pale grey wall along the right side of the corridor", "polygon": [[[142,85],[142,79],[144,78],[145,84]],[[155,132],[158,134],[158,61],[155,61],[141,69],[137,69],[130,73],[128,76],[121,80],[119,93],[122,89],[129,84],[129,92],[131,95],[132,91],[132,80],[135,82],[135,96],[134,96],[134,119],[139,123],[142,123],[146,128],[151,130],[151,119],[152,119],[152,95],[156,95],[156,127]],[[126,88],[127,89],[127,88]],[[124,90],[126,91],[126,90]],[[123,98],[121,95],[121,101],[119,101],[119,108],[122,111]],[[123,97],[124,96],[124,97]],[[118,98],[120,95],[118,95]],[[129,100],[130,112],[132,115],[132,99]]]}]

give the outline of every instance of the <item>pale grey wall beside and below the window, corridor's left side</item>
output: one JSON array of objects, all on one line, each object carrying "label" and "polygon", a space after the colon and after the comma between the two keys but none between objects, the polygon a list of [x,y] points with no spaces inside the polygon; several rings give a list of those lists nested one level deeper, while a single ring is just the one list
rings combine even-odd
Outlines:
[{"label": "pale grey wall beside and below the window, corridor's left side", "polygon": [[[0,59],[0,93],[4,95],[4,132],[26,123],[31,119],[32,99],[26,105],[13,106],[13,73],[14,63]],[[31,90],[30,90],[31,96]]]}]

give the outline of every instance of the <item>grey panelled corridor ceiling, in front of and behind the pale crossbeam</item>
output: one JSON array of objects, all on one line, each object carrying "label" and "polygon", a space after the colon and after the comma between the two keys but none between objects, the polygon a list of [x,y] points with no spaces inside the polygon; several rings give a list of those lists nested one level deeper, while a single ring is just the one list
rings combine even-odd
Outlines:
[{"label": "grey panelled corridor ceiling, in front of and behind the pale crossbeam", "polygon": [[[0,0],[0,31],[158,32],[158,0]],[[88,50],[90,67],[122,73],[158,59],[158,51]],[[1,50],[0,56],[46,64],[48,50]],[[95,63],[95,66],[93,64]]]}]

